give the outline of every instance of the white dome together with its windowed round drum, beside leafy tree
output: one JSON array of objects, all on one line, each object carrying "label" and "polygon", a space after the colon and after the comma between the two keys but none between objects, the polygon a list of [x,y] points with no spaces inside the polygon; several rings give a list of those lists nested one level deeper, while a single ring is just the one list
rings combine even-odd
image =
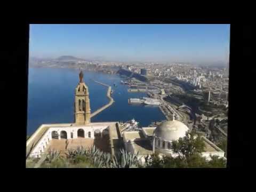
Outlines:
[{"label": "white dome together with its windowed round drum, beside leafy tree", "polygon": [[187,125],[174,118],[161,123],[153,132],[153,153],[171,154],[172,141],[185,137],[188,130]]}]

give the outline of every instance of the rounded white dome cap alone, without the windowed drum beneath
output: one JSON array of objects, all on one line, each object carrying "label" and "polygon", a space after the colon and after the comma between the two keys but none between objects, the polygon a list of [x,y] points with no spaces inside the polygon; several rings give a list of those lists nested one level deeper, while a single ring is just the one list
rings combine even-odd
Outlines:
[{"label": "rounded white dome cap alone, without the windowed drum beneath", "polygon": [[184,123],[174,120],[161,123],[156,127],[154,133],[155,137],[173,141],[185,137],[187,131],[188,127]]}]

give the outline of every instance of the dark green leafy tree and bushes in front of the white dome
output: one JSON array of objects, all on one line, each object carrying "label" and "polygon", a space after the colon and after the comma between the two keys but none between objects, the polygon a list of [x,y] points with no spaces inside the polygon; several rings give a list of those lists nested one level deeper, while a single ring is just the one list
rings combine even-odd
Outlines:
[{"label": "dark green leafy tree and bushes in front of the white dome", "polygon": [[146,157],[146,167],[162,168],[225,168],[226,159],[212,156],[210,161],[201,155],[205,145],[201,137],[195,132],[186,134],[186,137],[172,142],[172,150],[176,156],[162,156],[154,154]]}]

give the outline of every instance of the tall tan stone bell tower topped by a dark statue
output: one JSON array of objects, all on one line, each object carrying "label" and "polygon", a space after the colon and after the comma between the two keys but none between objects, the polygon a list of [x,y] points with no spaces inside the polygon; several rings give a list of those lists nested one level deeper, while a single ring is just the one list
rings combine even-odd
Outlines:
[{"label": "tall tan stone bell tower topped by a dark statue", "polygon": [[75,123],[85,125],[91,122],[91,109],[88,87],[83,81],[82,70],[79,73],[79,83],[75,89]]}]

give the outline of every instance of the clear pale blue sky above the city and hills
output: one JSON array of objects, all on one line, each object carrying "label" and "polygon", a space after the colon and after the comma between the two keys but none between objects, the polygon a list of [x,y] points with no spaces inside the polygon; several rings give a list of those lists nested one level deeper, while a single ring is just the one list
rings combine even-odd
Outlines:
[{"label": "clear pale blue sky above the city and hills", "polygon": [[29,56],[113,61],[223,63],[230,25],[30,25]]}]

